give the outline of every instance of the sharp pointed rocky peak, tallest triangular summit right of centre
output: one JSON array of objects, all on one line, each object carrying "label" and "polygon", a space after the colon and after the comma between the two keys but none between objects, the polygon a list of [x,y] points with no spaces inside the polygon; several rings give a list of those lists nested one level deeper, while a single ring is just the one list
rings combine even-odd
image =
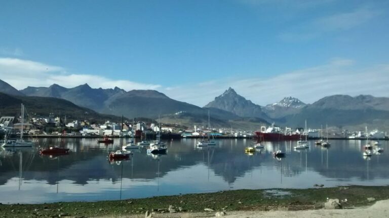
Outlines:
[{"label": "sharp pointed rocky peak, tallest triangular summit right of centre", "polygon": [[262,111],[262,107],[246,100],[243,96],[238,95],[234,89],[228,88],[222,95],[208,103],[204,108],[218,108],[241,117],[257,117],[264,120],[270,118]]}]

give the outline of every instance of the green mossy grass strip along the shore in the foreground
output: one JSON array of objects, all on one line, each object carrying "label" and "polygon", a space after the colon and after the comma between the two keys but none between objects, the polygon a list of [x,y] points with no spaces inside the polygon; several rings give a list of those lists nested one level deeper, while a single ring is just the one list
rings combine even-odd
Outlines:
[{"label": "green mossy grass strip along the shore in the foreground", "polygon": [[[275,191],[277,190],[277,191]],[[287,192],[286,195],[273,194]],[[222,210],[303,210],[322,208],[328,198],[347,199],[343,207],[373,204],[375,200],[389,199],[388,186],[350,186],[315,189],[235,190],[205,194],[161,196],[99,202],[58,202],[44,204],[1,204],[0,217],[91,217],[169,213],[169,205],[179,211],[204,212],[205,208]],[[214,213],[214,212],[212,212]]]}]

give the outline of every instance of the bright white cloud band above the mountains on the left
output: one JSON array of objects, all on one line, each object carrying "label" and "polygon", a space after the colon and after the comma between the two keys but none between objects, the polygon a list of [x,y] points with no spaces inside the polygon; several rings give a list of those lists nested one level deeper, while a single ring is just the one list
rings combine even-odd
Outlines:
[{"label": "bright white cloud band above the mountains on the left", "polygon": [[66,88],[88,83],[92,88],[114,88],[118,86],[124,90],[158,89],[161,85],[145,84],[129,80],[113,80],[103,76],[74,74],[66,72],[59,66],[16,58],[0,58],[0,79],[8,82],[16,89],[27,86],[50,86],[53,83]]}]

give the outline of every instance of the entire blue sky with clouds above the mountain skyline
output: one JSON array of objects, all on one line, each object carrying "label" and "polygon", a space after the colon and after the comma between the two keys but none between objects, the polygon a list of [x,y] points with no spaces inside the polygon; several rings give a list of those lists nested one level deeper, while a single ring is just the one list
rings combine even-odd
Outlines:
[{"label": "entire blue sky with clouds above the mountain skyline", "polygon": [[284,97],[389,97],[389,2],[2,1],[0,79],[152,89],[204,106],[229,87]]}]

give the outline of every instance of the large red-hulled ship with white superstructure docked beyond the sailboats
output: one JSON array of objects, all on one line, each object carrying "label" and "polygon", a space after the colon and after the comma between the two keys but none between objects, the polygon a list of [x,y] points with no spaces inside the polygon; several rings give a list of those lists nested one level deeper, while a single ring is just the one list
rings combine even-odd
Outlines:
[{"label": "large red-hulled ship with white superstructure docked beyond the sailboats", "polygon": [[301,139],[301,135],[297,132],[292,133],[290,128],[286,128],[285,132],[280,127],[275,127],[274,123],[267,127],[261,126],[261,130],[255,132],[258,141],[297,141]]}]

